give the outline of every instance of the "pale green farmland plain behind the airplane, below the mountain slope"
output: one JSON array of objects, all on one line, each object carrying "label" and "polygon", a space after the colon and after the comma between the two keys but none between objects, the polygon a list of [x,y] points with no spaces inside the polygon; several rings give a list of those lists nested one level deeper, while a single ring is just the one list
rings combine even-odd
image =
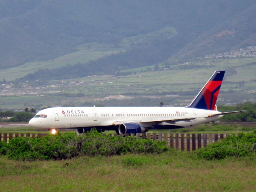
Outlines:
[{"label": "pale green farmland plain behind the airplane, below the mountain slope", "polygon": [[[189,104],[215,70],[226,70],[218,104],[234,104],[244,100],[255,101],[256,58],[205,60],[175,65],[170,70],[145,71],[132,69],[127,76],[90,76],[67,80],[85,81],[80,86],[51,88],[44,96],[1,96],[0,108],[22,109],[43,106],[170,106]],[[162,66],[164,66],[162,64]],[[161,66],[160,66],[161,67]],[[142,72],[140,72],[142,71]],[[52,81],[51,84],[58,84]],[[3,92],[4,93],[4,92]],[[68,93],[70,97],[62,94]],[[84,94],[76,97],[74,94]],[[235,94],[234,94],[235,93]],[[104,100],[110,95],[125,95],[124,100]],[[168,97],[168,95],[171,95]],[[146,98],[146,99],[145,99]]]}]

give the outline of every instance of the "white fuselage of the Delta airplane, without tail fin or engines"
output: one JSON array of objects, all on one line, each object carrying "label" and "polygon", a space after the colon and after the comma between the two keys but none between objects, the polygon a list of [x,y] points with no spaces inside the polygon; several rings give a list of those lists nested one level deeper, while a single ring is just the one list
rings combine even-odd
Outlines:
[{"label": "white fuselage of the Delta airplane, without tail fin or engines", "polygon": [[148,129],[182,128],[217,120],[221,116],[208,117],[216,113],[220,112],[186,107],[56,107],[39,111],[29,124],[35,128],[109,126],[105,130],[113,130],[111,126],[120,122],[144,122],[143,126]]}]

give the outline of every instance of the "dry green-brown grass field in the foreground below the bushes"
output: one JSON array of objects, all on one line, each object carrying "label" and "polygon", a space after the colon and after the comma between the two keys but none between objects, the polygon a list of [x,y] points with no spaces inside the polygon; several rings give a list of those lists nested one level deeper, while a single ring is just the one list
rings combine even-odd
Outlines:
[{"label": "dry green-brown grass field in the foreground below the bushes", "polygon": [[255,191],[256,160],[190,152],[21,162],[0,157],[0,191]]}]

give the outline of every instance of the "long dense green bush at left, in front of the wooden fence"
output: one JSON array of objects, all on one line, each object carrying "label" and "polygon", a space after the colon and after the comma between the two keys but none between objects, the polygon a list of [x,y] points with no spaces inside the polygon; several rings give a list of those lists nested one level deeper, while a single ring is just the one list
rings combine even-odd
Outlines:
[{"label": "long dense green bush at left, in front of the wooden fence", "polygon": [[102,136],[96,130],[86,134],[58,133],[43,138],[13,138],[0,142],[0,155],[14,160],[61,160],[76,156],[111,156],[126,153],[162,153],[165,142],[131,137]]}]

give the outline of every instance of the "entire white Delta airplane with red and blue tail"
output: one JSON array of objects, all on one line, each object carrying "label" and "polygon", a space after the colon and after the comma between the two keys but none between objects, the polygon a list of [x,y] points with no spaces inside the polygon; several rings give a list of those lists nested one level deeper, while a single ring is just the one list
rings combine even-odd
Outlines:
[{"label": "entire white Delta airplane with red and blue tail", "polygon": [[225,71],[215,71],[202,90],[186,107],[53,107],[39,111],[29,121],[35,128],[76,129],[77,134],[92,128],[98,132],[115,130],[117,134],[143,133],[151,129],[176,129],[214,122],[226,114],[216,101]]}]

